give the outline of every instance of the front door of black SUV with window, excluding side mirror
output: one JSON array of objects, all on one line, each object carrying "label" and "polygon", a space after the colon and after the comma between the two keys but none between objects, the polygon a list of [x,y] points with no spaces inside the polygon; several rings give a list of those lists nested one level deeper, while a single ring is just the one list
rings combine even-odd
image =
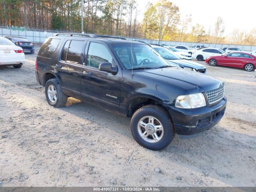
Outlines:
[{"label": "front door of black SUV with window, excluding side mirror", "polygon": [[116,66],[116,59],[107,44],[91,41],[86,46],[87,57],[82,68],[82,98],[98,102],[99,106],[119,112],[122,70],[117,74],[99,70],[101,62],[110,62]]}]

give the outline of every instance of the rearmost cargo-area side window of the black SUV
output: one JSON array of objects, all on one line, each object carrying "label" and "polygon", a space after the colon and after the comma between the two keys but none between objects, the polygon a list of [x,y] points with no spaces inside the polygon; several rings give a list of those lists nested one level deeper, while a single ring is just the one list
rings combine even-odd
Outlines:
[{"label": "rearmost cargo-area side window of the black SUV", "polygon": [[42,44],[40,51],[38,52],[38,56],[51,58],[59,43],[60,39],[49,38],[44,42],[44,44]]}]

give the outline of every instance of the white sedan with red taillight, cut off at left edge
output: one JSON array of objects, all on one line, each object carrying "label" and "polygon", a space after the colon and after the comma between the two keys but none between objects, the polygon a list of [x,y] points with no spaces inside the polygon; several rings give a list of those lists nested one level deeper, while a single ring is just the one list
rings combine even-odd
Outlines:
[{"label": "white sedan with red taillight, cut off at left edge", "polygon": [[0,37],[0,66],[14,66],[21,68],[25,63],[24,51],[10,40]]}]

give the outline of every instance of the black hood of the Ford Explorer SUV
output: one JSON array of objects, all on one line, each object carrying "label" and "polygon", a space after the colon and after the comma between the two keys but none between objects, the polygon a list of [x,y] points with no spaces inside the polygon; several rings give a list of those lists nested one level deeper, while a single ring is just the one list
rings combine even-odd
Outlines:
[{"label": "black hood of the Ford Explorer SUV", "polygon": [[219,88],[223,85],[221,80],[212,78],[206,74],[187,71],[184,69],[172,67],[162,69],[137,70],[134,74],[148,76],[150,78],[164,81],[173,88],[183,90],[183,93],[193,94],[198,92],[206,92]]}]

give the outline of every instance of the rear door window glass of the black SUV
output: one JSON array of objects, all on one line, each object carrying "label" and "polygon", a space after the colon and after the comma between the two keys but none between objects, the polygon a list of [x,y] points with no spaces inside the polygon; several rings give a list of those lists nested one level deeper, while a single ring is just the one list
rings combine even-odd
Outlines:
[{"label": "rear door window glass of the black SUV", "polygon": [[62,50],[60,59],[69,63],[80,64],[84,41],[68,40]]}]

